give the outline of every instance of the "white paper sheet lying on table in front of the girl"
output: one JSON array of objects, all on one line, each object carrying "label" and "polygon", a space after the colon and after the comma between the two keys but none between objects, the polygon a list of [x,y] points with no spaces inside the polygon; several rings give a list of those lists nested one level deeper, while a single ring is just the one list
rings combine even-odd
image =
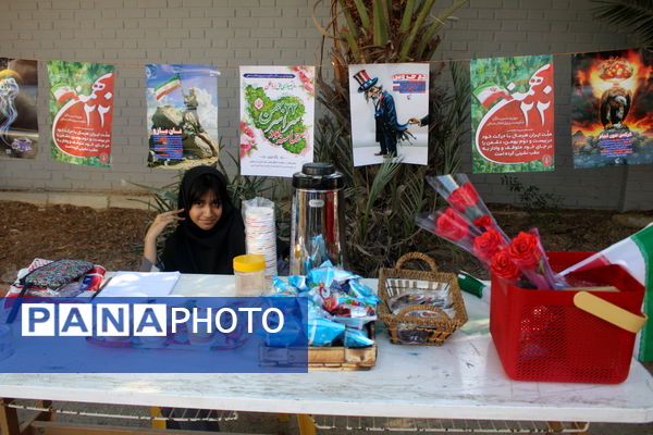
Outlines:
[{"label": "white paper sheet lying on table in front of the girl", "polygon": [[169,296],[181,275],[180,272],[116,272],[98,296]]}]

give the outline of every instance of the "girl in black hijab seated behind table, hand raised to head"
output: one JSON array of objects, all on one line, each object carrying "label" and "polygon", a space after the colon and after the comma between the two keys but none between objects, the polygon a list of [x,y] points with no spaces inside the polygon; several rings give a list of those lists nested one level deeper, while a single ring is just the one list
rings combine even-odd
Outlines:
[{"label": "girl in black hijab seated behind table, hand raised to head", "polygon": [[245,225],[229,199],[224,175],[210,166],[186,171],[177,207],[159,214],[145,235],[144,269],[157,263],[157,238],[177,223],[165,240],[162,271],[233,274],[233,258],[245,253]]}]

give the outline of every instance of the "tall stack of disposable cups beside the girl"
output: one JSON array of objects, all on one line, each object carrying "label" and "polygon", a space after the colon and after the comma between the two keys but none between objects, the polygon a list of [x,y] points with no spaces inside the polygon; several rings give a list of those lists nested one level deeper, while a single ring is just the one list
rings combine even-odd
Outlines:
[{"label": "tall stack of disposable cups beside the girl", "polygon": [[248,254],[266,259],[266,295],[272,288],[272,277],[276,275],[276,227],[274,225],[274,202],[255,198],[244,202],[245,243]]}]

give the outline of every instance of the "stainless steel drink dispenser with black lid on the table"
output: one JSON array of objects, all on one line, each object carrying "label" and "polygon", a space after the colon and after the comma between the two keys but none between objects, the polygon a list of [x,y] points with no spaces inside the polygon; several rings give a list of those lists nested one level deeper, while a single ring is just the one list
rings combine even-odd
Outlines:
[{"label": "stainless steel drink dispenser with black lid on the table", "polygon": [[344,266],[343,174],[331,163],[306,163],[293,175],[291,275],[325,260]]}]

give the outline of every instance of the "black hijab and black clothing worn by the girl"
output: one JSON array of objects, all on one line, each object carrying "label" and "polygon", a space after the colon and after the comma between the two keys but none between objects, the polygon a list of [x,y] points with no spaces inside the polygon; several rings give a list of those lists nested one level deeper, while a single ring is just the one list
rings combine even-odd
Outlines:
[{"label": "black hijab and black clothing worn by the girl", "polygon": [[[192,186],[204,175],[218,178],[220,186],[215,195],[222,201],[222,216],[211,229],[205,231],[190,221]],[[226,192],[226,178],[211,166],[195,166],[186,171],[182,184],[177,208],[184,209],[174,233],[165,240],[161,261],[164,271],[182,273],[233,274],[233,259],[245,253],[245,225],[241,210],[233,207]]]}]

